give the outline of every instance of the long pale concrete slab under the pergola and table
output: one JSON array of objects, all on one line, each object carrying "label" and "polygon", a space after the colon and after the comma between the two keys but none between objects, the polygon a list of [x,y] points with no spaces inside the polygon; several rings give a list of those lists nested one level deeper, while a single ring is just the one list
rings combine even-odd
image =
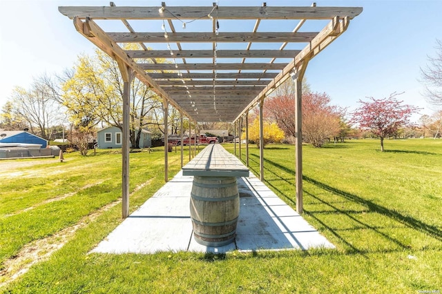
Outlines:
[{"label": "long pale concrete slab under the pergola and table", "polygon": [[236,241],[220,247],[193,239],[189,202],[193,177],[178,173],[93,249],[93,253],[287,250],[335,248],[323,235],[251,175],[238,177],[240,216]]}]

